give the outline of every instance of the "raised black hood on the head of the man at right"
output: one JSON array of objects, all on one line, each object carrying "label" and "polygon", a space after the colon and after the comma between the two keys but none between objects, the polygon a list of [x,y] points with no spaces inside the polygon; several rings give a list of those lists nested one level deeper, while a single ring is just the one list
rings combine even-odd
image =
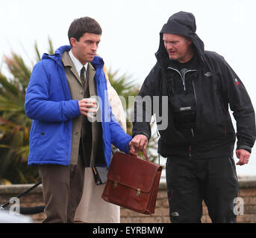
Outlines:
[{"label": "raised black hood on the head of the man at right", "polygon": [[164,48],[163,44],[163,33],[171,33],[181,36],[190,37],[193,45],[199,53],[199,56],[203,58],[205,52],[204,42],[196,34],[196,19],[193,13],[178,12],[169,17],[166,24],[163,25],[162,30],[160,30],[160,43],[159,48],[156,53],[157,60],[159,57],[164,60],[168,58],[168,53]]}]

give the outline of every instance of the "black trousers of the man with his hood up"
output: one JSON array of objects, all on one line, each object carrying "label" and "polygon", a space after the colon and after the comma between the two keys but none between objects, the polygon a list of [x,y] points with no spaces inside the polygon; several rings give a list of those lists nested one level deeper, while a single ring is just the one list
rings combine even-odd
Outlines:
[{"label": "black trousers of the man with his hood up", "polygon": [[166,184],[172,223],[201,222],[203,200],[212,222],[237,222],[233,158],[167,158]]}]

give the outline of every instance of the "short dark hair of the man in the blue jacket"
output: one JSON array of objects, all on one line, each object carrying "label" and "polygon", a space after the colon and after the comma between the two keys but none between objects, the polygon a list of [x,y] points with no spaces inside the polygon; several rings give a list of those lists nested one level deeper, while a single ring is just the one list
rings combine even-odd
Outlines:
[{"label": "short dark hair of the man in the blue jacket", "polygon": [[80,37],[83,36],[84,33],[102,35],[102,28],[95,19],[88,16],[75,19],[69,26],[69,44],[71,45],[70,38],[74,37],[79,41]]}]

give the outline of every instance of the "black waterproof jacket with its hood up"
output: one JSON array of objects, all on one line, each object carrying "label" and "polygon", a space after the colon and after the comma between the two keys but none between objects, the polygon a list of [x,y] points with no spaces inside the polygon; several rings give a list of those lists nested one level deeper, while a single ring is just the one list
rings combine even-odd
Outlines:
[{"label": "black waterproof jacket with its hood up", "polygon": [[[160,45],[157,63],[150,71],[140,89],[140,97],[151,97],[152,106],[137,112],[141,100],[134,103],[133,136],[146,135],[151,138],[151,127],[146,118],[154,115],[153,97],[159,96],[159,113],[168,111],[168,126],[159,129],[158,152],[163,157],[171,155],[194,158],[213,158],[233,156],[236,135],[230,106],[237,122],[237,149],[251,151],[256,138],[255,112],[243,83],[222,56],[215,52],[205,51],[204,43],[196,35],[196,21],[192,13],[180,12],[171,16],[160,32]],[[193,79],[196,96],[196,130],[192,140],[188,141],[175,129],[172,112],[169,107],[162,108],[162,96],[168,96],[166,70],[169,56],[163,45],[163,33],[175,33],[190,37],[201,62]],[[141,105],[140,105],[141,106]],[[139,115],[140,114],[140,115]],[[157,116],[157,115],[156,115]],[[138,120],[143,118],[143,121]],[[157,124],[162,123],[160,117]]]}]

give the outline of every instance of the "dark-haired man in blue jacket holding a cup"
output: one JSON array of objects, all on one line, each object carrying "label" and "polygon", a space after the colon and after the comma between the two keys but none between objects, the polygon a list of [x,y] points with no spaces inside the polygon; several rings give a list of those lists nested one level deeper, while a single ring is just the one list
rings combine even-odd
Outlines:
[{"label": "dark-haired man in blue jacket holding a cup", "polygon": [[[31,74],[25,95],[25,112],[33,120],[28,165],[37,165],[42,178],[44,222],[74,222],[84,167],[109,166],[111,144],[129,152],[131,136],[111,113],[104,62],[96,56],[101,35],[95,19],[75,19],[71,46],[44,54]],[[97,112],[92,96],[99,100]]]}]

